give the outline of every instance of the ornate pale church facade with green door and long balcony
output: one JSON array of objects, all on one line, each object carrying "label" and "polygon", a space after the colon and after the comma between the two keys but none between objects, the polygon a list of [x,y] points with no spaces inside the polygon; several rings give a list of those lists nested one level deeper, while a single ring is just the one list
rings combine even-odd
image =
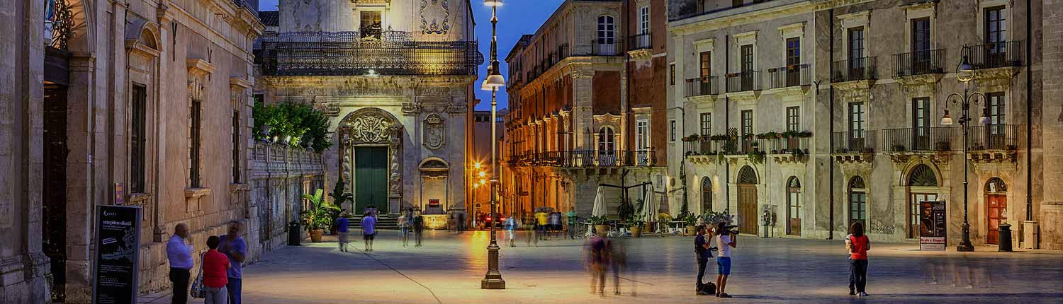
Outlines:
[{"label": "ornate pale church facade with green door and long balcony", "polygon": [[281,1],[263,13],[276,24],[256,42],[254,93],[332,118],[325,167],[354,195],[343,209],[414,208],[431,227],[466,209],[466,133],[484,60],[468,0]]}]

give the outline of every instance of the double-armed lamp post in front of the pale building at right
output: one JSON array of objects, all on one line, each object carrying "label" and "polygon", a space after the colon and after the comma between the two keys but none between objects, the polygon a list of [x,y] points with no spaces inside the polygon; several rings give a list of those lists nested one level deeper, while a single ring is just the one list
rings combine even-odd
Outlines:
[{"label": "double-armed lamp post in front of the pale building at right", "polygon": [[[975,68],[967,60],[967,54],[971,54],[971,48],[963,46],[963,59],[956,68],[956,79],[963,83],[963,94],[954,92],[945,97],[945,115],[941,118],[942,125],[952,125],[952,118],[948,115],[948,105],[949,103],[960,105],[961,114],[958,120],[963,129],[963,239],[960,240],[960,245],[956,246],[956,251],[975,251],[975,246],[971,245],[971,225],[967,222],[967,127],[971,123],[971,104],[979,102],[975,97],[981,97],[981,102],[983,103],[985,101],[985,94],[982,94],[982,92],[969,91],[971,81],[975,79]],[[978,122],[983,125],[990,122],[985,112],[986,109],[983,108],[982,115],[978,119]]]}]

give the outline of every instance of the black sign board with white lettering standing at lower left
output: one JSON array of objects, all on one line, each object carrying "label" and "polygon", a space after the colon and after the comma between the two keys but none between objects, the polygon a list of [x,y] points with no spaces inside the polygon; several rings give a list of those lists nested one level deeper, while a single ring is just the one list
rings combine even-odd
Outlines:
[{"label": "black sign board with white lettering standing at lower left", "polygon": [[92,303],[136,303],[140,207],[96,207]]}]

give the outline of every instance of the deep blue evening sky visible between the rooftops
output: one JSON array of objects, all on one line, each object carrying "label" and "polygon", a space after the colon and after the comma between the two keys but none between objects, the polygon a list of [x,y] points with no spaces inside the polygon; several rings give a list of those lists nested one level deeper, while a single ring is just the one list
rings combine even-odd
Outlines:
[{"label": "deep blue evening sky visible between the rooftops", "polygon": [[[470,0],[472,2],[474,18],[476,18],[476,38],[479,40],[479,51],[484,53],[485,64],[479,67],[479,77],[483,81],[487,75],[487,64],[491,54],[491,7],[484,5],[480,0]],[[499,6],[499,61],[502,64],[502,74],[509,76],[506,66],[506,54],[513,48],[517,40],[523,34],[534,34],[539,25],[550,14],[557,10],[564,0],[504,0],[505,4]],[[276,11],[277,0],[260,0],[258,10]],[[476,81],[476,97],[483,102],[476,106],[477,110],[491,108],[491,92],[479,90],[479,82]],[[506,79],[508,83],[509,79]],[[504,91],[499,91],[499,109],[505,108],[507,97]]]}]

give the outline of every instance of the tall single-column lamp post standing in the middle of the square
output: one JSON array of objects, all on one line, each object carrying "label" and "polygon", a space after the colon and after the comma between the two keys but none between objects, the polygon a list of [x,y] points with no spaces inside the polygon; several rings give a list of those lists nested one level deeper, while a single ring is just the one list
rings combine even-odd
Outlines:
[{"label": "tall single-column lamp post standing in the middle of the square", "polygon": [[[484,0],[484,4],[491,6],[491,66],[487,68],[487,78],[484,79],[482,89],[491,91],[491,216],[494,216],[494,204],[497,202],[497,195],[495,193],[496,186],[499,185],[497,176],[497,160],[494,156],[494,149],[497,138],[495,135],[495,121],[497,115],[497,101],[495,95],[499,92],[499,88],[506,85],[506,79],[502,77],[502,72],[499,70],[499,33],[496,24],[499,23],[497,11],[499,6],[502,5],[502,0]],[[506,281],[502,280],[502,272],[499,272],[499,243],[495,239],[495,229],[494,223],[491,223],[491,244],[487,246],[487,274],[484,275],[484,280],[479,282],[480,289],[506,289]]]}]

